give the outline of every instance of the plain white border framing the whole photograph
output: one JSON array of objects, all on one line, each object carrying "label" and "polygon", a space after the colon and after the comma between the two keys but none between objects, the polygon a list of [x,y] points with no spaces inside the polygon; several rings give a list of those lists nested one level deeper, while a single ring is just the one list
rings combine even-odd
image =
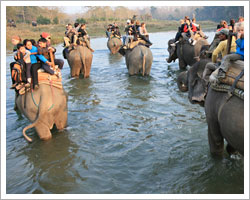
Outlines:
[{"label": "plain white border framing the whole photograph", "polygon": [[[245,53],[244,194],[6,194],[6,6],[58,6],[58,1],[1,1],[1,198],[4,199],[249,199],[249,55]],[[142,1],[63,1],[63,6],[141,6]],[[245,6],[245,52],[249,52],[248,1],[143,1],[143,6]]]}]

